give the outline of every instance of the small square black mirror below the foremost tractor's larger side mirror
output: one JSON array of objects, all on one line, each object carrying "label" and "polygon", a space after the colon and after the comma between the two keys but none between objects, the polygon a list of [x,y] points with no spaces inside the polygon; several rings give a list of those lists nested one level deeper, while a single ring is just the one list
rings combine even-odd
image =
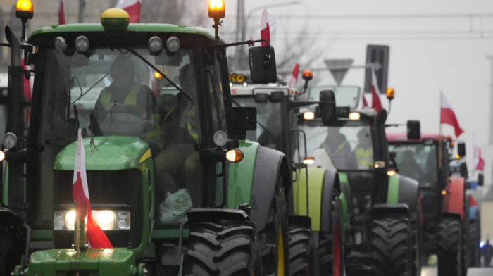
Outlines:
[{"label": "small square black mirror below the foremost tractor's larger side mirror", "polygon": [[233,107],[232,138],[244,140],[247,130],[257,128],[257,108]]}]

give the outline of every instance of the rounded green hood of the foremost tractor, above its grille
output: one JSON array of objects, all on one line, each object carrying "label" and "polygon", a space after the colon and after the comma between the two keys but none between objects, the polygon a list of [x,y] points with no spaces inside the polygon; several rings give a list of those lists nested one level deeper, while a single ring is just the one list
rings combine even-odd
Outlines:
[{"label": "rounded green hood of the foremost tractor, above its grille", "polygon": [[[139,168],[139,164],[151,157],[149,144],[138,137],[101,136],[82,139],[85,149],[86,170],[126,170]],[[73,170],[77,141],[65,146],[56,156],[55,170]]]}]

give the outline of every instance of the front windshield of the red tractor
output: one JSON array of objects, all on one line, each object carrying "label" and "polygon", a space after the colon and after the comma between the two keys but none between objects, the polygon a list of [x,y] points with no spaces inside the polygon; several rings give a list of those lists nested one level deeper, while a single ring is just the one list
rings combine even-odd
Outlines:
[{"label": "front windshield of the red tractor", "polygon": [[424,187],[437,184],[437,150],[435,144],[390,144],[389,151],[396,153],[395,161],[401,175],[414,178]]}]

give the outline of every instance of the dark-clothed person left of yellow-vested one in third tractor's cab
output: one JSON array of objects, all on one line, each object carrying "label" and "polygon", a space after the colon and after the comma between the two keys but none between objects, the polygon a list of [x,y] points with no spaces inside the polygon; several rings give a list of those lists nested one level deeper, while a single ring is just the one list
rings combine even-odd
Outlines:
[{"label": "dark-clothed person left of yellow-vested one in third tractor's cab", "polygon": [[340,132],[339,127],[329,127],[327,137],[319,147],[327,151],[337,168],[347,168],[351,145],[347,142],[346,136]]}]

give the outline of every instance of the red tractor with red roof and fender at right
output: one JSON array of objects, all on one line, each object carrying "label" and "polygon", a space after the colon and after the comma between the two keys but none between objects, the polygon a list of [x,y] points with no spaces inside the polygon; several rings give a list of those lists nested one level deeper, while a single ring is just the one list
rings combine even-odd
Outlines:
[{"label": "red tractor with red roof and fender at right", "polygon": [[[463,158],[466,148],[438,134],[389,134],[389,151],[399,173],[418,180],[423,204],[423,256],[437,254],[438,275],[466,275],[469,266],[470,184],[453,174],[449,163]],[[466,165],[466,163],[463,163]],[[466,168],[467,170],[467,168]]]}]

